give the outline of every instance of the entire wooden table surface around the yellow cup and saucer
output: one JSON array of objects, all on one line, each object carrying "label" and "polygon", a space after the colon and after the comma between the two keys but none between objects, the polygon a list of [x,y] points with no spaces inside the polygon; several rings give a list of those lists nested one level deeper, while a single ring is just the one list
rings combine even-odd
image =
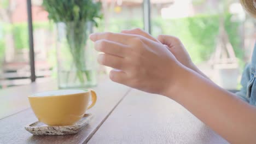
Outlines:
[{"label": "entire wooden table surface around the yellow cup and saucer", "polygon": [[[27,95],[55,89],[33,83],[0,91],[0,143],[228,143],[175,101],[104,80],[88,126],[75,135],[33,136]],[[2,119],[1,119],[2,118]]]}]

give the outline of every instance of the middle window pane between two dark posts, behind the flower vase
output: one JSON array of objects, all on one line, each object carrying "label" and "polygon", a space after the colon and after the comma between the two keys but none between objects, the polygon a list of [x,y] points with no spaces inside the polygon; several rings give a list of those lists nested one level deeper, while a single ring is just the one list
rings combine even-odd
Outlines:
[{"label": "middle window pane between two dark posts, behind the flower vase", "polygon": [[[32,1],[34,52],[38,81],[57,79],[57,29],[42,7],[42,0]],[[94,32],[120,32],[123,29],[143,28],[143,1],[101,1],[103,19]],[[129,19],[127,17],[129,16]],[[88,43],[89,44],[89,43]],[[106,71],[100,66],[100,74]]]}]

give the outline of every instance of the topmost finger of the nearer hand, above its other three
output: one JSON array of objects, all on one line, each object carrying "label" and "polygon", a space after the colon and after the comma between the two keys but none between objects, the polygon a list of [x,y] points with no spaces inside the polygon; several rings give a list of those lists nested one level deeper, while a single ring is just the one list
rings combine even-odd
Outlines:
[{"label": "topmost finger of the nearer hand, above its other three", "polygon": [[109,41],[114,41],[116,43],[120,44],[126,44],[127,39],[131,38],[131,35],[124,34],[124,33],[93,33],[90,35],[90,39],[92,41],[97,41],[97,40],[109,40]]}]

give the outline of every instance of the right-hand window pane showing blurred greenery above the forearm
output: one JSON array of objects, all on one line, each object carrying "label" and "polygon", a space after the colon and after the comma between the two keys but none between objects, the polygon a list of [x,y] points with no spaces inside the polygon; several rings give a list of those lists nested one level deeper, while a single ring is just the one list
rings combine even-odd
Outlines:
[{"label": "right-hand window pane showing blurred greenery above the forearm", "polygon": [[255,21],[236,0],[152,1],[152,34],[181,39],[193,62],[219,86],[239,89],[255,43]]}]

